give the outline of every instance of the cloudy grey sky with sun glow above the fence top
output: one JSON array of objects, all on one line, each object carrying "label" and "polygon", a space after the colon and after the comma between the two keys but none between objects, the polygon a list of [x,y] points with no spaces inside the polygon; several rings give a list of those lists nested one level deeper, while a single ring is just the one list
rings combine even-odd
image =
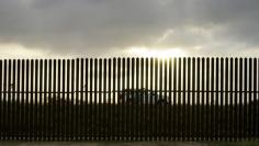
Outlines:
[{"label": "cloudy grey sky with sun glow above the fence top", "polygon": [[259,56],[259,0],[0,0],[1,58]]}]

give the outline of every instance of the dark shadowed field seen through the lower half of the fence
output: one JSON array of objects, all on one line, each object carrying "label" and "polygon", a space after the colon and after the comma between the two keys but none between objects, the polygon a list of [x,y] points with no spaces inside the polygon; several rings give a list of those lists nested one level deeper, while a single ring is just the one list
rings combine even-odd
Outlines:
[{"label": "dark shadowed field seen through the lower half of the fence", "polygon": [[[5,103],[4,103],[4,106]],[[255,105],[250,105],[254,108]],[[256,135],[256,113],[243,106],[140,105],[140,104],[61,104],[36,106],[13,103],[0,115],[3,137],[235,137]],[[10,111],[10,112],[9,112]],[[9,114],[5,114],[9,112]],[[246,116],[247,115],[247,116]],[[249,115],[249,116],[248,116]],[[249,120],[249,121],[248,121]],[[255,120],[255,119],[252,119]],[[252,123],[252,124],[248,124]],[[191,138],[192,137],[192,138]],[[11,138],[12,139],[12,138]],[[126,138],[128,141],[128,138]],[[156,139],[155,139],[156,141]]]}]

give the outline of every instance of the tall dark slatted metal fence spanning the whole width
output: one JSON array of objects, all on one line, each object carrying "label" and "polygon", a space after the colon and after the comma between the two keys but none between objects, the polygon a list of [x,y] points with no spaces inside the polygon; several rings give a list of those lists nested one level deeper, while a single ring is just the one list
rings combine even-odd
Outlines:
[{"label": "tall dark slatted metal fence spanning the whole width", "polygon": [[258,58],[0,60],[1,141],[258,141]]}]

